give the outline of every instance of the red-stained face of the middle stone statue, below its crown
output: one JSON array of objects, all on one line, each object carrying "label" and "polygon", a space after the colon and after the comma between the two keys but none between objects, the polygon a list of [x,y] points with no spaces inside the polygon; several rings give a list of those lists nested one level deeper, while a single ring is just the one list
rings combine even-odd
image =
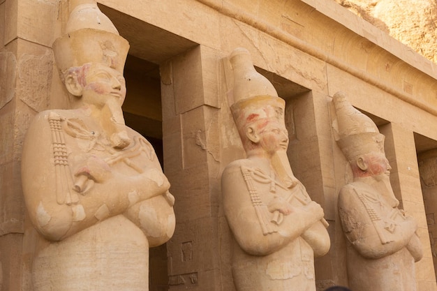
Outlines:
[{"label": "red-stained face of the middle stone statue, below its crown", "polygon": [[269,121],[259,129],[260,146],[269,154],[276,151],[286,151],[288,147],[288,131],[283,124]]}]

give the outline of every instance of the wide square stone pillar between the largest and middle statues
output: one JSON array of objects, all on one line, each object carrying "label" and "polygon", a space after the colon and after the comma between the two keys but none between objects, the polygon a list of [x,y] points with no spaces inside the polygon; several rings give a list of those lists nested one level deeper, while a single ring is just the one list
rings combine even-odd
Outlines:
[{"label": "wide square stone pillar between the largest and middle statues", "polygon": [[161,66],[164,172],[175,195],[170,290],[221,290],[218,60],[198,46]]}]

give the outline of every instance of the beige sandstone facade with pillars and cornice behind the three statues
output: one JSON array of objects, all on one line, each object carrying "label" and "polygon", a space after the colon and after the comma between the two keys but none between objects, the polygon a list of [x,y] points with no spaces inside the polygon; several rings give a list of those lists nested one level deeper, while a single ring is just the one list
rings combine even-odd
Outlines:
[{"label": "beige sandstone facade with pillars and cornice behind the three statues", "polygon": [[[68,106],[51,50],[68,15],[65,3],[0,1],[1,290],[31,291],[27,262],[35,240],[24,218],[20,149],[36,112]],[[99,3],[130,41],[130,53],[161,70],[164,166],[177,215],[166,254],[170,290],[233,290],[219,181],[223,167],[244,155],[228,110],[225,60],[238,46],[287,100],[293,170],[330,223],[332,249],[316,261],[320,290],[347,284],[336,197],[350,174],[330,126],[339,90],[387,136],[394,191],[418,221],[425,246],[418,290],[437,290],[416,159],[416,148],[425,146],[415,139],[437,140],[435,64],[334,1]],[[161,250],[153,258],[163,256]]]}]

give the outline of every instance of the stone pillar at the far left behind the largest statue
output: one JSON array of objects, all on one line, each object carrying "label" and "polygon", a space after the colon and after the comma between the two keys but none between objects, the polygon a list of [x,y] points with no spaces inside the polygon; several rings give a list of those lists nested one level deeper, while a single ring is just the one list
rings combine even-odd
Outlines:
[{"label": "stone pillar at the far left behind the largest statue", "polygon": [[[23,246],[21,147],[29,122],[52,89],[56,0],[0,1],[0,289],[29,290]],[[24,267],[22,269],[22,267]],[[23,278],[22,278],[23,277]]]}]

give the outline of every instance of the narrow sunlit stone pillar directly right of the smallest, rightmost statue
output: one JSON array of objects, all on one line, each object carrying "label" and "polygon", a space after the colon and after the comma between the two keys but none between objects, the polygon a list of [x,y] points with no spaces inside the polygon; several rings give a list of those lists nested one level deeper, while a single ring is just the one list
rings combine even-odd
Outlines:
[{"label": "narrow sunlit stone pillar directly right of the smallest, rightmost statue", "polygon": [[380,133],[385,135],[385,155],[392,166],[390,181],[400,202],[399,208],[413,216],[419,226],[417,233],[422,242],[424,256],[415,264],[417,290],[436,290],[413,132],[399,124],[386,124],[380,127]]}]

